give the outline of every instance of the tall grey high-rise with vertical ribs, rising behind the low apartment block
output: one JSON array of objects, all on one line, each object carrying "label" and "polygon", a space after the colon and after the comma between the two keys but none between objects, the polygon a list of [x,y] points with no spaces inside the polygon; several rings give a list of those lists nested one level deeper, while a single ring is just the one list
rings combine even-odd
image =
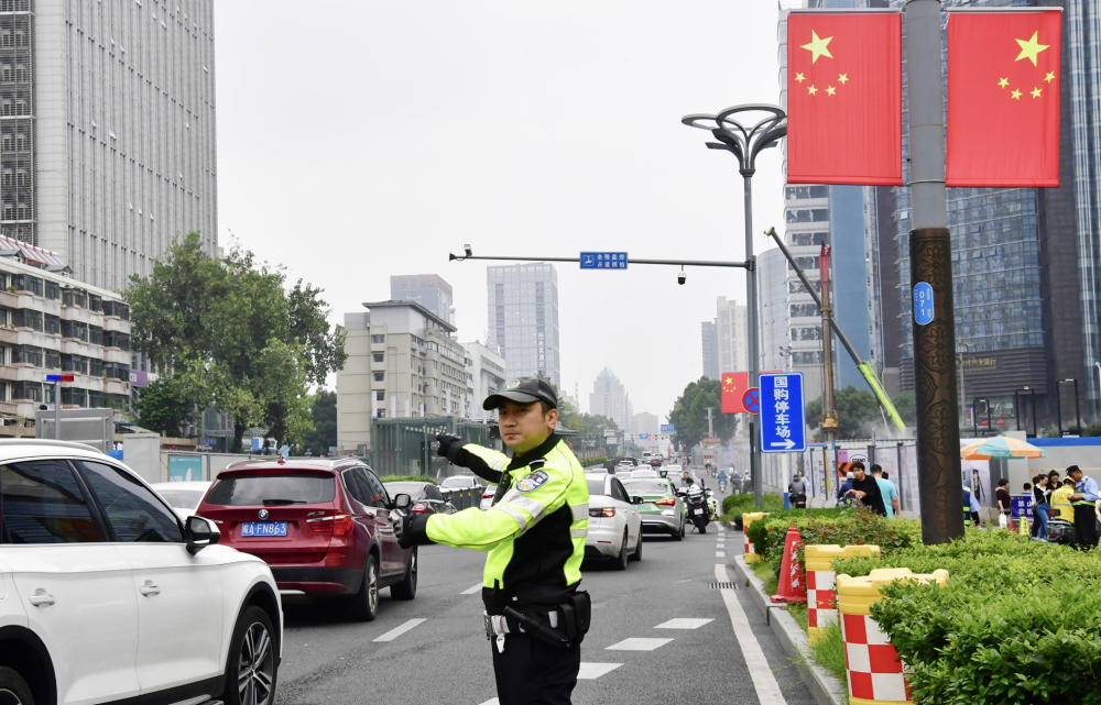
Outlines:
[{"label": "tall grey high-rise with vertical ribs, rising behind the low apartment block", "polygon": [[0,232],[110,290],[218,250],[214,1],[3,0]]}]

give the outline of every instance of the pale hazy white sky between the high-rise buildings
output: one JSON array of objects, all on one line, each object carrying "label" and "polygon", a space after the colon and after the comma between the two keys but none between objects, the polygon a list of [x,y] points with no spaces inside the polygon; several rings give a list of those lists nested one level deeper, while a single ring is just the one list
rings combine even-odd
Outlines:
[{"label": "pale hazy white sky between the high-rise buildings", "polygon": [[[778,100],[773,0],[218,0],[215,38],[221,244],[324,287],[334,323],[436,273],[459,339],[484,340],[486,263],[447,260],[464,243],[744,257],[737,161],[679,119]],[[781,224],[780,158],[760,159],[757,232]],[[607,365],[664,418],[716,297],[745,299],[740,271],[556,266],[584,410]]]}]

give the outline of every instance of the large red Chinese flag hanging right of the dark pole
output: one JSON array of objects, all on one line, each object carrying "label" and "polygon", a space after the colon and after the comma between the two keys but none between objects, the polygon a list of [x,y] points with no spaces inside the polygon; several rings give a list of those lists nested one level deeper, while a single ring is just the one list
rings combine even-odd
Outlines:
[{"label": "large red Chinese flag hanging right of the dark pole", "polygon": [[1062,13],[948,19],[948,186],[1059,185]]}]

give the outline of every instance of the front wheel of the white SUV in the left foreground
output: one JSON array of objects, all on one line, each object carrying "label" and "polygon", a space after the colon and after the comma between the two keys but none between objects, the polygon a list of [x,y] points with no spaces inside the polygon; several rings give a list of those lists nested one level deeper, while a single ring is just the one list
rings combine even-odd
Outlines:
[{"label": "front wheel of the white SUV in the left foreground", "polygon": [[272,620],[259,607],[237,619],[226,664],[226,705],[269,705],[275,701],[276,652]]}]

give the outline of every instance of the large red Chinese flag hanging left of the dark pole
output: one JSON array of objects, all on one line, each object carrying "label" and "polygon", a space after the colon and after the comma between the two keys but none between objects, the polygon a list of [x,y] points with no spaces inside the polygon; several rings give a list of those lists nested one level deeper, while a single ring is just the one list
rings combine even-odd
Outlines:
[{"label": "large red Chinese flag hanging left of the dark pole", "polygon": [[902,15],[787,16],[787,183],[902,186]]}]

